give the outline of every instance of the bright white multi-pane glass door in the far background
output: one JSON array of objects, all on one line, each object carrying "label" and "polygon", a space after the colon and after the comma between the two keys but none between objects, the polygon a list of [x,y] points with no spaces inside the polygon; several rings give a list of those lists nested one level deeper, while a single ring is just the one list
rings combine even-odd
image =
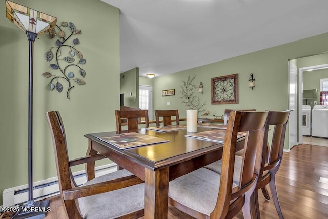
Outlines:
[{"label": "bright white multi-pane glass door in the far background", "polygon": [[153,119],[153,87],[139,85],[139,108],[148,110],[149,120]]}]

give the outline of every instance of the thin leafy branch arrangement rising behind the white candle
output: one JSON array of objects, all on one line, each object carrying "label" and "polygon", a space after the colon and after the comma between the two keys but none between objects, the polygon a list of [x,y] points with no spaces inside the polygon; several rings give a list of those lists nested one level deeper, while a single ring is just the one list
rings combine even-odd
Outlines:
[{"label": "thin leafy branch arrangement rising behind the white candle", "polygon": [[205,112],[207,108],[204,108],[206,102],[200,103],[199,97],[195,95],[197,86],[192,83],[195,78],[196,76],[190,78],[190,75],[188,75],[187,81],[182,81],[183,86],[181,86],[180,93],[182,94],[182,103],[185,104],[188,109],[197,109],[199,117],[199,113]]}]

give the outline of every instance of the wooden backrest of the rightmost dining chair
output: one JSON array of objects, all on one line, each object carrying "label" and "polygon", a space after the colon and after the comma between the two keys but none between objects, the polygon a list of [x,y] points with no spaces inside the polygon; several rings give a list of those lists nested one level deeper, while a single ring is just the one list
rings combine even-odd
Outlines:
[{"label": "wooden backrest of the rightmost dining chair", "polygon": [[268,124],[273,130],[273,136],[271,145],[268,145],[267,150],[264,151],[260,175],[267,170],[276,172],[280,166],[289,114],[290,110],[270,111]]}]

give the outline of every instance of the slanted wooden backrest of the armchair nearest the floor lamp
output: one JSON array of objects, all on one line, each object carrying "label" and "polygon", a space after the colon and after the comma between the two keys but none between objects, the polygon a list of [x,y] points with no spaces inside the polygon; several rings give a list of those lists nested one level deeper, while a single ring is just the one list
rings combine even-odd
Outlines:
[{"label": "slanted wooden backrest of the armchair nearest the floor lamp", "polygon": [[64,124],[63,121],[61,121],[61,117],[58,111],[47,112],[46,116],[55,152],[60,198],[65,204],[65,209],[70,206],[69,209],[71,211],[76,211],[76,215],[79,215],[78,209],[75,206],[75,201],[64,201],[63,199],[63,190],[77,187],[69,165]]}]

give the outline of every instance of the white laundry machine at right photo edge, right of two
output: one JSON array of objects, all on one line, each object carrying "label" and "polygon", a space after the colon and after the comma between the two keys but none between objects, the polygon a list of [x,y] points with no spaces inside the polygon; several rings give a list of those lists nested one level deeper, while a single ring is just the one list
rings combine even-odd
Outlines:
[{"label": "white laundry machine at right photo edge, right of two", "polygon": [[312,137],[328,138],[328,105],[315,105],[312,110]]}]

